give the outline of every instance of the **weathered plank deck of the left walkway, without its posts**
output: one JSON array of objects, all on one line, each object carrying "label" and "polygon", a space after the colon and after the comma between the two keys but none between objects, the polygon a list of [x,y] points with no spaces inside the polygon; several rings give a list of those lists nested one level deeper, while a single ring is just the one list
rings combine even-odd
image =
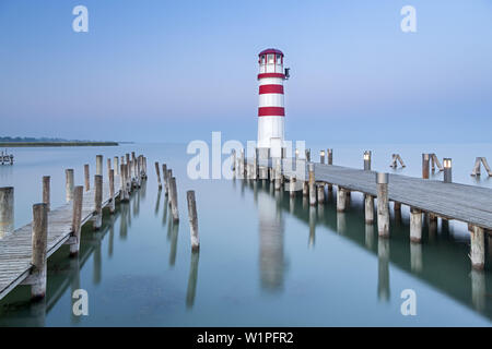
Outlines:
[{"label": "weathered plank deck of the left walkway, without its posts", "polygon": [[[119,176],[115,178],[115,197],[119,195]],[[95,189],[84,191],[83,194],[82,225],[93,217]],[[103,183],[103,207],[106,206],[109,201],[109,183],[105,182]],[[70,238],[71,228],[71,202],[48,213],[48,257]],[[31,224],[14,230],[0,240],[0,299],[7,296],[30,275],[31,258]]]}]

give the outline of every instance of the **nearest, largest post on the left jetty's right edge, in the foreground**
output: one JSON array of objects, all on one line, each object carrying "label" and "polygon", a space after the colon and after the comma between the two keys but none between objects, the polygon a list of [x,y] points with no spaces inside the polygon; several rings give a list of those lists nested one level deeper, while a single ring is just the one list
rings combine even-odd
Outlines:
[{"label": "nearest, largest post on the left jetty's right edge, in the foreground", "polygon": [[48,245],[48,209],[46,204],[33,205],[32,267],[30,275],[31,297],[44,298],[46,294],[46,265]]}]

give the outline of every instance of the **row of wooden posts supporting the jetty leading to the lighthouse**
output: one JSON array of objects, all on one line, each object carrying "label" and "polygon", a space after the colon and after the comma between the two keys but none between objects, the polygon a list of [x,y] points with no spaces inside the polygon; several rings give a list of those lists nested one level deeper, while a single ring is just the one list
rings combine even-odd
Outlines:
[{"label": "row of wooden posts supporting the jetty leading to the lighthouse", "polygon": [[[325,164],[325,155],[326,155],[326,165],[333,165],[333,151],[328,149],[325,154],[325,151],[320,152],[320,164]],[[272,159],[271,168],[260,167],[258,166],[258,149],[254,154],[253,163],[248,163],[245,156],[244,149],[241,151],[238,157],[236,157],[235,152],[233,151],[233,173],[234,177],[239,177],[244,179],[270,179],[270,181],[274,182],[274,189],[281,190],[282,185],[289,181],[289,186],[285,189],[290,192],[290,196],[294,197],[296,192],[300,191],[300,186],[297,186],[296,178],[292,176],[286,179],[284,173],[282,172],[282,159],[276,158]],[[298,153],[296,152],[296,158]],[[401,157],[398,154],[394,155],[394,160],[398,159],[401,161]],[[328,188],[328,192],[332,191],[332,183],[326,183],[321,181],[316,181],[315,172],[314,172],[314,163],[311,161],[311,149],[306,149],[306,164],[307,164],[307,180],[302,182],[302,192],[304,196],[308,196],[309,205],[323,205],[325,203],[325,186]],[[372,152],[366,151],[363,155],[363,168],[366,171],[371,171],[371,161],[372,161]],[[445,158],[441,166],[435,154],[422,154],[422,178],[429,179],[430,177],[430,168],[437,166],[440,171],[444,171],[444,182],[450,183],[453,181],[452,176],[452,159]],[[402,164],[405,166],[405,164]],[[380,238],[389,238],[389,200],[388,200],[388,183],[389,183],[389,174],[384,172],[375,173],[375,181],[377,186],[377,196],[372,196],[367,193],[364,194],[364,207],[365,207],[365,222],[367,225],[374,224],[377,221],[377,231]],[[374,216],[374,200],[377,198],[376,214],[377,217]],[[337,185],[337,212],[344,212],[350,207],[351,200],[351,191]],[[394,202],[394,210],[401,212],[401,203]],[[422,242],[422,220],[423,215],[426,214],[417,207],[410,207],[410,241],[412,243],[421,243]],[[430,224],[437,224],[437,216],[434,214],[427,214]],[[442,219],[446,219],[441,217]],[[468,230],[471,236],[471,249],[470,249],[470,260],[472,268],[475,269],[483,269],[484,267],[484,234],[485,231],[483,228],[478,226],[469,225]]]}]

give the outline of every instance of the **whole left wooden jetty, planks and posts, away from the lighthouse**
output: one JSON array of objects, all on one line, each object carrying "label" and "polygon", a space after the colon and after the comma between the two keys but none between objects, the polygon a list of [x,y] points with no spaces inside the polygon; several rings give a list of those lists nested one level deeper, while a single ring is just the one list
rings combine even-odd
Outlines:
[{"label": "whole left wooden jetty, planks and posts, away from the lighthouse", "polygon": [[[128,200],[129,192],[140,188],[141,181],[147,178],[147,160],[143,156],[136,157],[134,153],[131,159],[127,156],[127,163],[121,160],[117,172],[119,176],[116,178],[108,159],[107,181],[103,181],[102,161],[103,156],[98,155],[92,189],[89,188],[87,180],[84,190],[82,186],[74,186],[73,170],[66,170],[68,203],[55,209],[49,209],[49,177],[44,177],[44,203],[33,206],[33,222],[14,231],[0,231],[0,299],[17,285],[32,285],[33,298],[44,297],[47,258],[63,244],[70,244],[71,255],[77,255],[80,227],[94,221],[94,229],[101,228],[103,207],[109,207],[113,214],[116,200]],[[89,165],[84,169],[87,179]],[[0,228],[12,226],[9,221],[3,221],[13,217],[12,188],[1,189],[0,206]],[[43,230],[45,236],[39,236]]]}]

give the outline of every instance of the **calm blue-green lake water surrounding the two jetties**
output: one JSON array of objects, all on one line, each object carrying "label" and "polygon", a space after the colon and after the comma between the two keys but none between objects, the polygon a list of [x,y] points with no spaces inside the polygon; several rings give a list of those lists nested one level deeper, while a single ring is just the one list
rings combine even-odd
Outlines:
[{"label": "calm blue-green lake water surrounding the two jetties", "polygon": [[[321,147],[309,145],[313,157]],[[328,146],[328,145],[326,145]],[[326,147],[325,146],[325,147]],[[393,171],[390,154],[421,174],[421,153],[452,157],[454,180],[492,186],[469,176],[476,156],[492,145],[330,145],[333,163],[362,167],[373,151],[373,169]],[[132,144],[118,147],[16,148],[15,165],[0,166],[0,185],[15,188],[15,227],[32,218],[42,201],[42,177],[51,176],[51,205],[65,202],[65,169],[83,183],[83,164],[95,156],[131,151],[148,157],[149,179],[130,203],[105,213],[104,226],[82,231],[79,258],[68,248],[48,263],[45,301],[31,303],[17,287],[0,301],[0,326],[427,326],[492,323],[491,243],[487,272],[472,272],[466,226],[438,224],[423,230],[423,243],[409,242],[409,212],[391,210],[391,238],[378,240],[364,224],[362,195],[350,209],[336,210],[335,192],[324,206],[291,200],[267,182],[199,180],[186,176],[186,145]],[[178,185],[179,225],[169,221],[154,161],[173,168]],[[105,164],[104,164],[105,165]],[[483,171],[483,170],[482,170]],[[434,174],[442,179],[442,173]],[[201,246],[191,253],[186,191],[197,196]],[[490,242],[490,241],[489,241]],[[89,292],[89,316],[72,314],[72,291]],[[400,313],[405,289],[417,293],[417,316]]]}]

